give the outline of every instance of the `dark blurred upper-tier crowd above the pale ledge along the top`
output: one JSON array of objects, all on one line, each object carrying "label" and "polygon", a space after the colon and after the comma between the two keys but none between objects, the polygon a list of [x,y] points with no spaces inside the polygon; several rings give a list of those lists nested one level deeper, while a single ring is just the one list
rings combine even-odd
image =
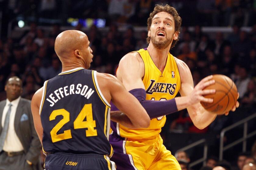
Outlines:
[{"label": "dark blurred upper-tier crowd above the pale ledge along the top", "polygon": [[8,21],[19,15],[25,20],[57,19],[65,25],[68,17],[103,18],[107,23],[144,26],[155,4],[175,7],[183,26],[252,26],[256,16],[255,0],[0,0],[0,9]]}]

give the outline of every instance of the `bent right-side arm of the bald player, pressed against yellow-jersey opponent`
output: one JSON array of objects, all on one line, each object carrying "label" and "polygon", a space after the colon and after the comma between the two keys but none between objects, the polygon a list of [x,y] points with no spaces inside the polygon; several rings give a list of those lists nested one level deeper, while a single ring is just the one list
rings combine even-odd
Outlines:
[{"label": "bent right-side arm of the bald player, pressed against yellow-jersey opponent", "polygon": [[[114,76],[97,73],[100,89],[108,102],[112,100],[123,113],[112,113],[112,120],[129,128],[146,128],[150,118],[140,102],[130,94],[123,84]],[[138,119],[138,113],[140,113]]]}]

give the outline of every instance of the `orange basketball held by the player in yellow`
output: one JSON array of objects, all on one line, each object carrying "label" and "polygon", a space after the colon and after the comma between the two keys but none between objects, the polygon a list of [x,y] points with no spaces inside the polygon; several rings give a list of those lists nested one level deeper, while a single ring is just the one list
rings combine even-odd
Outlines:
[{"label": "orange basketball held by the player in yellow", "polygon": [[238,96],[236,85],[229,77],[221,74],[213,75],[212,80],[215,80],[215,84],[204,89],[215,89],[216,93],[204,95],[204,97],[212,98],[213,103],[200,103],[206,110],[214,114],[224,114],[230,111],[236,103]]}]

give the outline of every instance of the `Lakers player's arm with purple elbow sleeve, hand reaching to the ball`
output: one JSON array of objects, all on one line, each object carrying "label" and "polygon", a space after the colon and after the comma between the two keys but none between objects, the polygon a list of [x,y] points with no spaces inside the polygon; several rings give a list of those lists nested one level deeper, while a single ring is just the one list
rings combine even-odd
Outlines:
[{"label": "Lakers player's arm with purple elbow sleeve, hand reaching to the ball", "polygon": [[[192,101],[188,96],[176,97],[167,101],[146,100],[146,91],[142,82],[142,78],[144,77],[144,63],[137,52],[128,53],[122,58],[116,75],[123,82],[126,89],[130,90],[129,92],[140,101],[140,104],[145,108],[150,118],[174,113],[201,100],[208,103],[212,102],[212,99],[204,98],[202,95],[215,93],[215,91],[203,90],[203,94],[195,94],[198,100],[194,100],[193,98]],[[203,85],[207,86],[212,83],[214,82],[210,80],[204,82]],[[193,87],[191,89],[193,90]]]}]

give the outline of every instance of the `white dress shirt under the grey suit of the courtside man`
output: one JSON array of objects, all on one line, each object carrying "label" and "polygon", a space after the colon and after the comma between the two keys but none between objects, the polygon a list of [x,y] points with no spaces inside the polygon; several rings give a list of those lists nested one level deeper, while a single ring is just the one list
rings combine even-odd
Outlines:
[{"label": "white dress shirt under the grey suit of the courtside man", "polygon": [[3,110],[3,115],[2,115],[2,127],[4,127],[5,124],[5,116],[7,114],[7,111],[9,109],[9,104],[12,104],[11,107],[11,113],[10,113],[10,120],[9,120],[9,127],[8,127],[8,131],[6,134],[6,138],[5,138],[5,143],[4,143],[4,147],[3,150],[6,152],[18,152],[18,151],[23,151],[24,148],[20,142],[20,139],[18,138],[16,132],[15,132],[15,128],[14,128],[14,119],[15,119],[15,114],[16,114],[16,110],[17,110],[17,106],[20,102],[20,98],[17,98],[16,100],[13,100],[12,102],[10,102],[8,99],[6,99],[6,104]]}]

